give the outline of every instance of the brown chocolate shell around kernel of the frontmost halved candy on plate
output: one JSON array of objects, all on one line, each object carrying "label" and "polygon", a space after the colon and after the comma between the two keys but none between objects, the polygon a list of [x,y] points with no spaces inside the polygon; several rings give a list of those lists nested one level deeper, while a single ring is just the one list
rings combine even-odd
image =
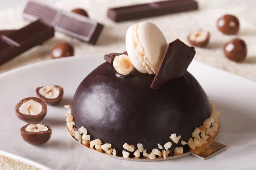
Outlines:
[{"label": "brown chocolate shell around kernel of the frontmost halved candy on plate", "polygon": [[41,132],[28,132],[26,131],[26,127],[30,124],[41,124],[44,125],[42,123],[39,122],[31,122],[26,124],[25,126],[20,128],[20,134],[22,139],[32,145],[36,145],[39,146],[41,144],[44,144],[46,142],[49,141],[49,139],[52,136],[52,128],[50,127],[50,125],[44,125],[48,128],[47,131],[41,131]]}]

